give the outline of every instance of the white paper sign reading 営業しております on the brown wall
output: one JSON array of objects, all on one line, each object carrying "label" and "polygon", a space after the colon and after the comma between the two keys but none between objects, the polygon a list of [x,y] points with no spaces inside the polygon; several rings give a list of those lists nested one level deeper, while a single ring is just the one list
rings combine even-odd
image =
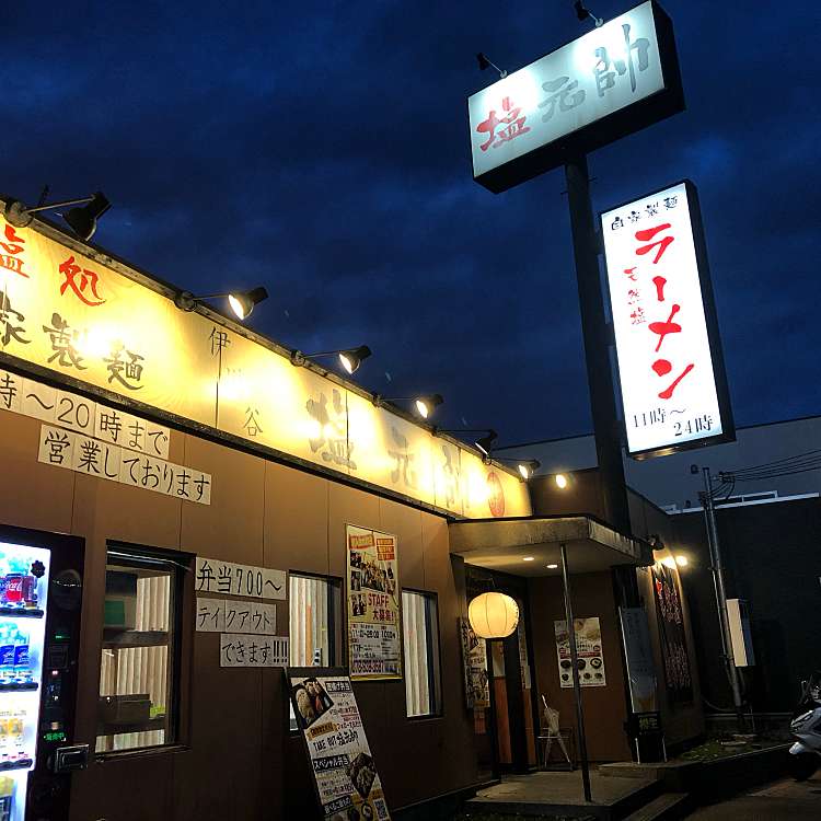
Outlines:
[{"label": "white paper sign reading \u55b6\u696d\u3057\u3066\u304a\u308a\u307e\u3059 on the brown wall", "polygon": [[37,459],[94,478],[153,490],[183,501],[211,504],[211,475],[109,444],[91,436],[43,425]]}]

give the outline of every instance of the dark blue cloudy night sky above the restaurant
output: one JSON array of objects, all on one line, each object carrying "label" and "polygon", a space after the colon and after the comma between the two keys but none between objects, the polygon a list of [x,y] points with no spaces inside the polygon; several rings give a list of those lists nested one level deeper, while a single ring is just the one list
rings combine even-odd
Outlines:
[{"label": "dark blue cloudy night sky above the restaurant", "polygon": [[[605,19],[632,2],[590,0]],[[589,158],[593,206],[698,189],[738,425],[821,413],[811,4],[667,0],[687,109]],[[813,19],[814,18],[814,19]],[[499,444],[590,430],[564,174],[473,182],[465,97],[592,27],[570,0],[4,3],[0,190],[100,188],[94,242],[251,325],[362,343],[384,395]]]}]

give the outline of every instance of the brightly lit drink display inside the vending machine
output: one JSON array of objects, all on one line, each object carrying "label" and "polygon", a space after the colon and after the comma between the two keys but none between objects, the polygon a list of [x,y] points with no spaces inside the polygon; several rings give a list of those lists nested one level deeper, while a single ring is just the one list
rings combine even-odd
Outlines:
[{"label": "brightly lit drink display inside the vending machine", "polygon": [[36,761],[50,558],[0,542],[0,821],[24,821]]}]

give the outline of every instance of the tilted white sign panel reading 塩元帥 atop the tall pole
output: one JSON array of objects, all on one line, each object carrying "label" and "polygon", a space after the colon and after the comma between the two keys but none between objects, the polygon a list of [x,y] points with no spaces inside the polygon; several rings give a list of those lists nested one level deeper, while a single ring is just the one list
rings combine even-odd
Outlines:
[{"label": "tilted white sign panel reading \u5869\u5143\u5e25 atop the tall pole", "polygon": [[474,177],[664,90],[656,12],[641,3],[473,94]]}]

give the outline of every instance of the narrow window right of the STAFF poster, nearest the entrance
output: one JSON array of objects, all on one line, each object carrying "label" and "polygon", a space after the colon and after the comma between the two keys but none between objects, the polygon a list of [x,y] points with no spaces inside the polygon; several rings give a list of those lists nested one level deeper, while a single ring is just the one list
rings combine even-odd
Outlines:
[{"label": "narrow window right of the STAFF poster, nearest the entrance", "polygon": [[436,595],[402,591],[405,704],[408,717],[433,716],[441,707],[439,620]]}]

